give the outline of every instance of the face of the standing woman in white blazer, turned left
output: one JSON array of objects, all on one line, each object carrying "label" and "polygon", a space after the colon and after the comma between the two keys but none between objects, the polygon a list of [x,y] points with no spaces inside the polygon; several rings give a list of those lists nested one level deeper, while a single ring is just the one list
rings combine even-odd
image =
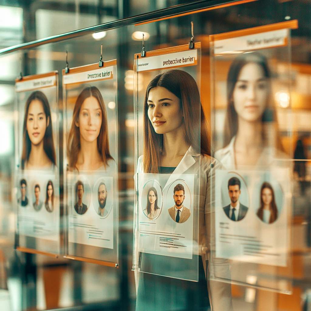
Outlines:
[{"label": "face of the standing woman in white blazer, turned left", "polygon": [[152,88],[149,91],[147,104],[148,118],[156,133],[173,132],[184,124],[179,98],[165,87]]}]

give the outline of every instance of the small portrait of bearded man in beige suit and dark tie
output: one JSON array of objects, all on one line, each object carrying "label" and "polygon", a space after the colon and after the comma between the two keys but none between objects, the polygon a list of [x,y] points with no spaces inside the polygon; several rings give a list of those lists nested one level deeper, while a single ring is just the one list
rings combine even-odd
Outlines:
[{"label": "small portrait of bearded man in beige suit and dark tie", "polygon": [[190,216],[190,210],[183,206],[183,201],[185,199],[185,189],[183,188],[182,184],[177,184],[174,188],[174,195],[173,195],[175,205],[168,209],[169,216],[178,222],[183,223],[185,222]]}]

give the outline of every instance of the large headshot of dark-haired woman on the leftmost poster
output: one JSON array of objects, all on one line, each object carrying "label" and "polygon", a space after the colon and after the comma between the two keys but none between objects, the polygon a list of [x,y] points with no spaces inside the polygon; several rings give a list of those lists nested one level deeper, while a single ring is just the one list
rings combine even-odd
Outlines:
[{"label": "large headshot of dark-haired woman on the leftmost poster", "polygon": [[25,105],[22,133],[22,169],[49,169],[56,165],[51,111],[41,91],[30,94]]}]

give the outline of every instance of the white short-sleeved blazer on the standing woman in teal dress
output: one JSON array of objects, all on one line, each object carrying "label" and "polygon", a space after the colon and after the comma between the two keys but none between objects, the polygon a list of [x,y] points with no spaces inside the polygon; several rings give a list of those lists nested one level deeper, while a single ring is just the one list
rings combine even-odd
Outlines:
[{"label": "white short-sleeved blazer on the standing woman in teal dress", "polygon": [[[203,267],[205,275],[207,275],[207,288],[212,311],[233,311],[231,284],[220,281],[210,280],[210,273],[216,272],[227,280],[230,280],[229,264],[226,259],[215,258],[211,255],[211,248],[213,254],[215,253],[215,225],[214,225],[214,211],[213,204],[210,202],[211,185],[214,179],[215,168],[221,168],[218,161],[209,156],[203,156],[196,153],[192,146],[183,156],[179,165],[174,170],[173,174],[199,174],[199,255],[202,256]],[[140,156],[137,162],[137,173],[143,173],[143,156]],[[136,175],[137,176],[137,175]],[[169,177],[166,185],[174,181],[174,176]],[[136,183],[135,183],[136,185]],[[165,188],[165,187],[164,187]],[[137,189],[136,189],[137,191]],[[215,197],[215,196],[213,196]],[[139,272],[138,271],[138,231],[137,231],[137,209],[134,209],[134,271],[136,289],[138,289]],[[206,260],[209,264],[206,267]],[[214,267],[214,269],[211,269]]]}]

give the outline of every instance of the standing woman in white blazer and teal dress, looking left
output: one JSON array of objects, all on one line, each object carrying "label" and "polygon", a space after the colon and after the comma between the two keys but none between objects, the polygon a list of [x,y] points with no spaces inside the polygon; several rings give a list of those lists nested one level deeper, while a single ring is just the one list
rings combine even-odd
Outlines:
[{"label": "standing woman in white blazer and teal dress, looking left", "polygon": [[[213,165],[216,167],[218,164],[210,156],[210,138],[195,80],[187,72],[176,69],[157,75],[146,90],[144,148],[138,159],[137,173],[200,173],[199,281],[136,272],[137,311],[205,310],[210,305],[216,311],[232,310],[231,285],[205,278],[205,275],[210,275],[206,271],[206,260],[210,259],[207,248],[213,218],[209,199]],[[181,268],[178,265],[180,258],[148,253],[139,255],[135,248],[134,268],[139,260],[140,267],[165,267],[169,262],[176,271]],[[195,258],[196,255],[193,256]],[[227,271],[228,265],[222,262],[222,269]]]}]

